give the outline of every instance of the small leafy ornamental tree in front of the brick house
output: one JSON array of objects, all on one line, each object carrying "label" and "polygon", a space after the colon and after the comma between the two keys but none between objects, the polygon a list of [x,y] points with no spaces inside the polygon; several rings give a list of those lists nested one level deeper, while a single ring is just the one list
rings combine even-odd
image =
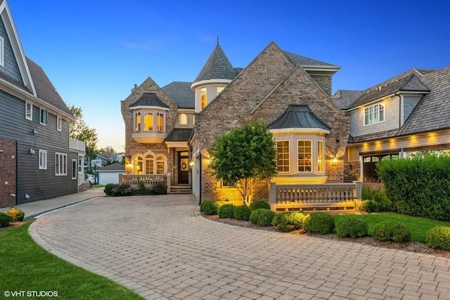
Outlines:
[{"label": "small leafy ornamental tree in front of the brick house", "polygon": [[261,120],[216,136],[210,154],[216,179],[234,185],[247,206],[252,203],[255,186],[277,174],[275,141]]}]

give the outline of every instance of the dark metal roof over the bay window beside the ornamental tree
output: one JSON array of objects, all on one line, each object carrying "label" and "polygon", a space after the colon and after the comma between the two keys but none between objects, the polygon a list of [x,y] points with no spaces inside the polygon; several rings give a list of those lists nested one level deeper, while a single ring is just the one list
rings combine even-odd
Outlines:
[{"label": "dark metal roof over the bay window beside the ornamental tree", "polygon": [[288,110],[270,126],[271,129],[319,128],[330,130],[322,124],[306,105],[291,105]]}]

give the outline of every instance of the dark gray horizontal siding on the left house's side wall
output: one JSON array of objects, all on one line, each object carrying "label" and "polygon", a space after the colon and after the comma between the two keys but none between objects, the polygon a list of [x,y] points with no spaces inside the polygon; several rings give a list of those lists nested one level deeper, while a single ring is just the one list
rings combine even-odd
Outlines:
[{"label": "dark gray horizontal siding on the left house's side wall", "polygon": [[[18,204],[77,193],[77,180],[72,179],[72,159],[69,152],[69,124],[63,120],[62,131],[56,130],[56,115],[49,113],[48,123],[39,124],[39,107],[33,105],[32,121],[25,119],[25,101],[0,91],[0,138],[17,141],[17,202]],[[37,134],[33,133],[37,130]],[[30,154],[30,148],[34,154]],[[39,169],[39,149],[47,150],[47,169]],[[68,174],[55,175],[55,152],[68,155]],[[30,199],[25,199],[25,194]]]}]

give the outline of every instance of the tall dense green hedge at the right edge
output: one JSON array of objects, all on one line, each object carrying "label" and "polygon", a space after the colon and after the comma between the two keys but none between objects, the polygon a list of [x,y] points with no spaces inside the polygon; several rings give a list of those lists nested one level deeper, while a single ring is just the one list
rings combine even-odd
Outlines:
[{"label": "tall dense green hedge at the right edge", "polygon": [[377,164],[394,211],[450,221],[450,156],[426,153]]}]

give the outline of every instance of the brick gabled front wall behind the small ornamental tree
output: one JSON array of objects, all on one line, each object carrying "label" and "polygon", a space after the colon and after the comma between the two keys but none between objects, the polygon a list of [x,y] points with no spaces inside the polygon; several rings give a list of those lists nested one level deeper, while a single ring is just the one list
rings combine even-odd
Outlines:
[{"label": "brick gabled front wall behind the small ornamental tree", "polygon": [[[214,136],[239,126],[245,119],[261,118],[271,123],[281,117],[289,105],[308,105],[330,128],[326,136],[327,182],[343,182],[342,155],[349,136],[349,118],[332,102],[330,92],[330,76],[311,77],[271,43],[195,117],[193,149],[202,150],[207,157]],[[341,158],[332,163],[333,156]],[[217,187],[207,163],[202,164],[201,182],[203,200],[230,197]],[[255,191],[255,199],[267,200],[268,190],[266,184],[262,185]]]}]

